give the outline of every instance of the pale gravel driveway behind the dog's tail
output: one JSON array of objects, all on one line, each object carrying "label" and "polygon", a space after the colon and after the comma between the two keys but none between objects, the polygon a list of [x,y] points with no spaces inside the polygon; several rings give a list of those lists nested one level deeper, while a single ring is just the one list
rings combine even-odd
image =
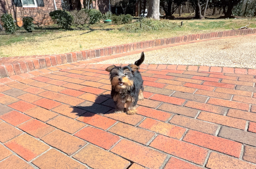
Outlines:
[{"label": "pale gravel driveway behind the dog's tail", "polygon": [[[256,36],[236,37],[186,44],[145,52],[144,64],[223,66],[256,68]],[[140,58],[134,54],[97,64],[129,64]]]}]

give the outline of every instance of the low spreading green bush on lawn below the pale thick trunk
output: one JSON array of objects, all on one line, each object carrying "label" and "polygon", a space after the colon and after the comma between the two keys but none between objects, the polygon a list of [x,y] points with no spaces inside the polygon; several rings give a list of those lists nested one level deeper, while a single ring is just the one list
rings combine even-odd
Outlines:
[{"label": "low spreading green bush on lawn below the pale thick trunk", "polygon": [[170,30],[178,28],[179,26],[169,20],[157,21],[154,19],[143,18],[138,22],[125,24],[120,31],[126,32],[148,32],[148,31],[159,31],[159,30]]}]

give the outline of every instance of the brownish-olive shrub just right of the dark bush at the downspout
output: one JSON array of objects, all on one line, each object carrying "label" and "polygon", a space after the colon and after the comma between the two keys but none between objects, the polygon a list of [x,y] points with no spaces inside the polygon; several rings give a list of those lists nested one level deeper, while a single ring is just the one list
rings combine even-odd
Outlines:
[{"label": "brownish-olive shrub just right of the dark bush at the downspout", "polygon": [[73,10],[70,11],[70,15],[73,16],[73,22],[72,24],[77,26],[77,25],[84,25],[85,23],[88,23],[89,21],[89,16],[85,12],[85,10]]}]

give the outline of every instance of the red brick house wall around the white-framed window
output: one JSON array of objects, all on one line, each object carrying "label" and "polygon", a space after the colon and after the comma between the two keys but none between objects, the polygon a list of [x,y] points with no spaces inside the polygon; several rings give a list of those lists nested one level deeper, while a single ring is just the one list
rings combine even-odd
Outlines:
[{"label": "red brick house wall around the white-framed window", "polygon": [[[54,11],[54,0],[43,0],[44,7],[16,7],[14,0],[0,0],[0,15],[8,13],[16,20],[18,26],[22,26],[23,16],[31,16],[34,18],[34,23],[39,25],[49,25],[53,21],[49,16],[51,11]],[[57,9],[62,9],[61,0],[55,0]]]}]

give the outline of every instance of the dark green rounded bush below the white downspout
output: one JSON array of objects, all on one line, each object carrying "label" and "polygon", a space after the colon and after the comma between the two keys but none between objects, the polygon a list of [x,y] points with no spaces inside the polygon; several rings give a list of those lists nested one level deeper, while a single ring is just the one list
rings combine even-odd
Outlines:
[{"label": "dark green rounded bush below the white downspout", "polygon": [[63,29],[69,29],[73,21],[73,16],[69,12],[64,10],[56,10],[50,12],[50,16],[54,22]]}]

